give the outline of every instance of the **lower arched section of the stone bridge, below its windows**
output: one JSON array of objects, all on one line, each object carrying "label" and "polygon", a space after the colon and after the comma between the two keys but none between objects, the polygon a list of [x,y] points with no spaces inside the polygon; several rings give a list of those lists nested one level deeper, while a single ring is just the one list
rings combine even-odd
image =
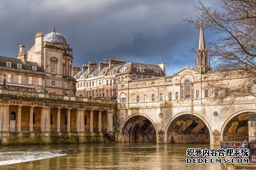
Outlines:
[{"label": "lower arched section of the stone bridge, below its windows", "polygon": [[118,104],[118,140],[220,145],[221,140],[255,136],[255,121],[249,119],[256,112],[255,100],[209,100]]}]

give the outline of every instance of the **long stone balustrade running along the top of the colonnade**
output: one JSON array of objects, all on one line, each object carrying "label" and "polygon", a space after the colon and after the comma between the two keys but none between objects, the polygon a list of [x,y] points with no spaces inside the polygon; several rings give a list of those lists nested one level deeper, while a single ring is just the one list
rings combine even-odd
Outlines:
[{"label": "long stone balustrade running along the top of the colonnade", "polygon": [[45,94],[40,92],[31,92],[23,90],[11,90],[11,89],[0,89],[0,94],[10,94],[15,96],[28,96],[28,97],[39,97],[47,99],[56,99],[60,101],[79,101],[79,102],[90,102],[90,103],[104,103],[104,104],[115,104],[116,101],[108,99],[94,99],[78,96],[64,96],[60,94]]}]

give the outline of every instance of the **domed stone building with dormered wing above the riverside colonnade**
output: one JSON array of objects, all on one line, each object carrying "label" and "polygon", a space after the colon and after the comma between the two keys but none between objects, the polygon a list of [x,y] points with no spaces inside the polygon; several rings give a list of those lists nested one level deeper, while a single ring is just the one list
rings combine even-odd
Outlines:
[{"label": "domed stone building with dormered wing above the riverside colonnade", "polygon": [[16,58],[0,58],[0,83],[5,79],[7,87],[74,96],[72,60],[72,48],[55,28],[45,36],[38,32],[28,52],[20,45]]}]

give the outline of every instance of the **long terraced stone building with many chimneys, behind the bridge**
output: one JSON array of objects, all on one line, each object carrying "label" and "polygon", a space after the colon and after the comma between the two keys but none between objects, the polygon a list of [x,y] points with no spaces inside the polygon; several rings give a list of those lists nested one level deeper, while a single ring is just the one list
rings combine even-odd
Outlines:
[{"label": "long terraced stone building with many chimneys, behind the bridge", "polygon": [[165,76],[165,64],[125,63],[123,59],[109,59],[109,62],[83,64],[83,69],[73,67],[74,78],[77,80],[77,96],[95,98],[116,98],[118,83],[129,78],[140,80]]}]

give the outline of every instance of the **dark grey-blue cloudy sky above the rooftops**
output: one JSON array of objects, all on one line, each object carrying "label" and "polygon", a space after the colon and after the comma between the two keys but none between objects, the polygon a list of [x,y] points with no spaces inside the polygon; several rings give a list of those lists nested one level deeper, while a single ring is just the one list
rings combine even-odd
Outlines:
[{"label": "dark grey-blue cloudy sky above the rooftops", "polygon": [[[205,0],[210,6],[211,1]],[[26,51],[36,32],[52,27],[73,48],[73,65],[115,57],[126,62],[166,64],[166,75],[193,67],[199,30],[184,18],[195,18],[198,0],[0,0],[0,55]],[[205,30],[206,45],[215,34]]]}]

